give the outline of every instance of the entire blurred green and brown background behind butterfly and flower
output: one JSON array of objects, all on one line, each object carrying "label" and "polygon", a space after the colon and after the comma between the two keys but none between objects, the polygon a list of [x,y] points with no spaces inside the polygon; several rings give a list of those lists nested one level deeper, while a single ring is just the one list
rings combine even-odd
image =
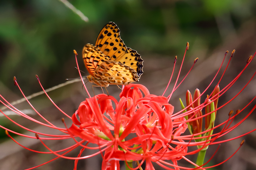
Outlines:
[{"label": "entire blurred green and brown background behind butterfly and flower", "polygon": [[[166,94],[170,93],[186,43],[189,42],[189,51],[187,51],[178,83],[193,65],[194,59],[198,57],[199,60],[170,100],[175,107],[175,112],[180,110],[179,98],[185,101],[186,90],[189,89],[191,93],[194,93],[196,88],[201,92],[204,91],[216,74],[227,50],[230,53],[216,80],[219,80],[224,71],[231,51],[236,49],[236,52],[220,83],[221,89],[234,79],[246,65],[248,57],[256,51],[256,2],[253,0],[72,0],[69,2],[83,12],[89,18],[89,22],[81,20],[78,15],[57,0],[2,0],[0,2],[0,94],[9,102],[22,98],[17,86],[13,85],[13,76],[16,76],[26,96],[41,91],[35,78],[36,74],[45,89],[65,83],[65,79],[77,78],[79,75],[74,68],[76,63],[73,49],[78,52],[80,69],[86,72],[83,75],[87,75],[81,57],[82,47],[87,43],[94,44],[102,27],[110,21],[115,22],[120,28],[121,38],[126,46],[137,50],[144,59],[144,73],[140,84],[146,86],[151,94],[162,95],[173,69],[174,57],[177,55],[174,79]],[[252,61],[233,87],[219,99],[218,106],[230,100],[243,88],[254,74],[255,68],[256,62]],[[216,83],[217,81],[214,81],[206,94],[210,94],[210,90]],[[246,106],[256,95],[255,84],[255,79],[252,79],[234,101],[217,111],[215,124],[227,120],[230,110],[242,109]],[[87,83],[87,87],[93,95],[91,84]],[[96,94],[101,93],[100,88],[94,89]],[[117,99],[121,92],[116,86],[108,87],[108,91]],[[204,100],[206,94],[201,100]],[[49,95],[70,116],[77,110],[80,102],[87,98],[82,90],[81,82],[51,91]],[[64,127],[61,122],[63,114],[51,104],[45,95],[40,95],[30,101],[50,122],[58,127]],[[252,102],[232,125],[240,121],[255,103],[255,101]],[[18,104],[17,108],[43,121],[35,115],[26,102]],[[12,114],[7,109],[3,111]],[[50,128],[39,126],[17,115],[10,115],[10,118],[36,131],[60,134],[58,131],[54,132]],[[68,126],[71,125],[68,120],[67,123]],[[34,136],[33,133],[19,128],[2,115],[0,115],[0,125]],[[256,128],[255,112],[242,125],[221,139],[236,137],[254,128]],[[216,129],[214,133],[219,131],[220,129]],[[47,151],[38,140],[11,135],[26,147]],[[222,144],[208,165],[218,164],[227,159],[239,147],[242,139],[246,139],[246,143],[236,155],[226,163],[212,169],[256,169],[255,132]],[[59,150],[74,142],[73,140],[61,140],[46,141],[46,143],[53,150]],[[209,147],[206,161],[216,148],[217,145]],[[76,157],[78,153],[79,149],[76,149],[68,156]],[[86,150],[83,154],[91,153],[93,151]],[[23,149],[7,138],[4,130],[0,129],[0,170],[26,169],[53,158],[55,155],[36,154]],[[196,155],[187,156],[187,158],[196,161]],[[100,155],[80,160],[78,170],[101,169],[101,160]],[[58,159],[36,169],[66,170],[73,169],[73,165],[72,160]],[[180,161],[178,165],[193,167],[185,161]],[[123,163],[121,166],[124,169]],[[155,168],[162,169],[159,166]]]}]

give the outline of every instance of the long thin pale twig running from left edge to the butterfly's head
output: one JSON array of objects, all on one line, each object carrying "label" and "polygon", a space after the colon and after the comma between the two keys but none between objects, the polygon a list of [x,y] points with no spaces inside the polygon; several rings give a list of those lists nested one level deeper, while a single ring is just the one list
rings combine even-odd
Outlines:
[{"label": "long thin pale twig running from left edge to the butterfly's head", "polygon": [[[52,90],[55,90],[55,89],[57,89],[57,88],[66,86],[66,85],[71,84],[71,83],[79,82],[79,81],[81,81],[81,80],[80,80],[80,79],[70,80],[70,81],[67,81],[67,82],[65,82],[65,83],[61,83],[61,84],[59,84],[59,85],[57,85],[57,86],[48,88],[48,89],[45,90],[45,92],[48,93],[49,91],[52,91]],[[34,93],[34,94],[30,95],[30,96],[27,96],[26,98],[29,100],[29,99],[32,99],[32,98],[34,98],[34,97],[36,97],[36,96],[45,94],[45,92],[44,92],[44,91],[39,91],[39,92]],[[24,102],[24,101],[26,101],[26,99],[25,99],[25,98],[22,98],[22,99],[19,99],[19,100],[16,100],[16,101],[12,102],[11,105],[14,106],[14,105],[19,104],[19,103],[22,103],[22,102]],[[6,108],[7,108],[6,106],[3,106],[3,107],[0,108],[0,110],[4,110],[4,109],[6,109]]]}]

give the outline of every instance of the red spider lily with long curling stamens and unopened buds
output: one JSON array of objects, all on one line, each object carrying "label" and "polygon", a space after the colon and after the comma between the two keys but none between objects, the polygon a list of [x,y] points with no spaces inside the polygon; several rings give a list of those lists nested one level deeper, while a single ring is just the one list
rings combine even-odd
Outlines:
[{"label": "red spider lily with long curling stamens and unopened buds", "polygon": [[[186,51],[188,50],[188,47],[189,45],[187,44]],[[185,51],[185,54],[186,54],[186,51]],[[228,51],[225,53],[225,57],[227,53]],[[233,53],[234,51],[232,52],[231,57],[233,56]],[[185,57],[185,54],[184,54],[184,57]],[[239,126],[244,120],[246,120],[246,118],[256,108],[256,104],[255,104],[255,106],[244,117],[244,119],[242,119],[237,124],[231,126],[231,123],[234,120],[234,118],[239,113],[241,113],[256,98],[255,96],[252,101],[250,101],[243,109],[238,110],[236,114],[234,114],[233,116],[231,116],[233,113],[233,111],[231,111],[229,113],[229,118],[226,121],[223,121],[219,125],[214,124],[215,117],[218,116],[218,114],[216,114],[217,110],[226,106],[229,102],[231,102],[234,98],[236,98],[237,95],[241,93],[241,91],[248,85],[248,83],[252,80],[253,76],[255,75],[256,72],[253,74],[253,76],[248,81],[248,83],[239,91],[239,93],[236,96],[234,96],[232,99],[230,99],[227,103],[223,104],[222,106],[217,107],[218,99],[224,93],[226,93],[226,91],[237,81],[237,79],[241,76],[244,70],[248,67],[253,57],[254,56],[249,57],[246,66],[236,76],[236,78],[233,81],[231,81],[223,89],[220,89],[218,85],[223,77],[222,75],[220,80],[216,84],[215,88],[212,90],[211,94],[207,95],[207,98],[205,99],[205,101],[201,103],[201,100],[200,100],[201,96],[205,94],[206,90],[209,89],[209,87],[212,85],[212,82],[214,81],[214,79],[216,78],[217,74],[220,71],[220,68],[223,63],[222,62],[214,79],[211,81],[209,86],[202,93],[200,93],[200,91],[196,89],[194,96],[192,97],[191,93],[187,91],[186,93],[187,106],[185,107],[182,101],[180,100],[183,109],[177,113],[173,113],[174,107],[171,104],[169,104],[169,100],[172,94],[174,93],[174,91],[180,85],[180,84],[177,85],[177,81],[179,78],[179,74],[180,74],[180,70],[181,70],[184,58],[183,58],[175,85],[173,87],[173,90],[170,93],[170,95],[168,95],[168,97],[164,97],[164,94],[172,79],[173,73],[171,75],[170,81],[162,96],[156,96],[156,95],[150,94],[148,89],[143,85],[130,84],[130,85],[123,86],[123,90],[120,94],[120,100],[118,101],[114,97],[108,96],[105,94],[99,94],[94,97],[90,97],[86,89],[86,86],[84,85],[84,88],[86,89],[89,98],[87,98],[85,101],[83,101],[80,104],[78,110],[72,115],[72,117],[66,114],[65,112],[63,112],[50,99],[50,97],[47,95],[46,91],[42,87],[39,81],[39,78],[37,76],[40,86],[44,90],[47,97],[51,100],[51,102],[69,119],[72,119],[72,122],[73,122],[72,126],[68,128],[65,124],[64,119],[62,119],[62,121],[65,124],[66,128],[58,128],[54,126],[52,123],[46,120],[39,112],[37,112],[36,109],[27,100],[27,102],[36,111],[36,113],[39,114],[48,124],[39,122],[31,118],[30,116],[22,113],[18,109],[16,109],[8,101],[6,101],[4,97],[0,95],[0,97],[2,98],[0,102],[4,104],[6,107],[8,107],[10,110],[25,117],[26,119],[29,119],[31,121],[34,121],[36,123],[39,123],[41,125],[44,125],[53,129],[60,130],[65,134],[50,135],[50,134],[35,132],[33,130],[25,128],[24,126],[14,122],[7,115],[5,115],[1,110],[0,111],[10,121],[12,121],[16,125],[30,132],[35,133],[36,136],[23,135],[23,134],[14,132],[12,130],[9,130],[1,125],[0,127],[6,129],[6,134],[10,138],[12,138],[16,143],[18,142],[13,137],[11,137],[8,132],[12,132],[28,138],[39,139],[42,145],[44,145],[49,150],[49,152],[35,151],[32,149],[26,148],[20,145],[19,143],[18,144],[30,151],[34,151],[37,153],[55,154],[57,156],[55,159],[57,158],[73,159],[75,160],[74,169],[76,169],[77,162],[79,159],[90,158],[96,154],[102,155],[102,158],[103,158],[102,169],[120,169],[119,161],[125,161],[126,169],[138,169],[138,168],[141,169],[141,165],[144,162],[146,164],[146,168],[145,168],[146,170],[154,169],[152,162],[155,162],[156,164],[160,165],[161,167],[164,167],[165,169],[180,169],[180,168],[207,169],[210,167],[215,167],[226,162],[229,158],[217,165],[203,167],[206,163],[208,163],[212,159],[214,155],[212,155],[212,157],[205,164],[203,164],[203,159],[202,160],[198,159],[196,163],[193,163],[192,161],[188,160],[185,156],[196,154],[198,152],[205,153],[209,145],[214,145],[214,144],[230,141],[233,139],[237,139],[239,137],[242,137],[256,130],[256,129],[253,129],[246,134],[236,136],[228,140],[222,140],[218,142],[215,141],[216,139],[219,139],[223,135],[231,132],[234,128]],[[176,60],[177,58],[175,58],[174,67],[176,64]],[[196,63],[196,61],[197,59],[194,61],[194,64]],[[228,64],[226,66],[226,69],[228,67]],[[193,68],[193,66],[191,67],[191,69]],[[223,74],[225,73],[225,71],[223,72]],[[79,71],[79,74],[80,74],[80,71]],[[82,78],[81,80],[83,82]],[[180,83],[182,83],[183,80]],[[14,78],[14,84],[17,85],[18,88],[20,89],[16,78]],[[20,91],[22,92],[21,89]],[[24,94],[23,96],[25,97]],[[205,114],[203,114],[203,112]],[[203,119],[205,119],[205,130],[202,130]],[[221,129],[219,133],[213,133],[214,129],[222,125],[224,127]],[[189,129],[189,132],[191,135],[182,135],[187,128]],[[126,140],[127,138],[129,138],[130,134],[135,134],[136,137]],[[48,136],[48,137],[40,137],[41,135]],[[68,138],[73,138],[73,140],[75,141],[75,144],[66,149],[62,149],[58,151],[51,150],[43,142],[43,140],[62,140],[62,139],[68,139]],[[79,138],[80,140],[78,141]],[[84,145],[83,143],[86,141],[87,143]],[[241,142],[241,145],[243,144],[243,142],[244,141]],[[98,147],[88,147],[87,145],[89,143],[97,144]],[[197,146],[198,149],[188,152],[188,147],[190,146]],[[70,152],[71,150],[77,147],[82,148],[77,158],[65,156],[68,152]],[[84,149],[98,149],[99,151],[91,155],[81,156]],[[59,154],[59,152],[62,152],[62,151],[66,151],[66,152],[63,154]],[[231,155],[230,158],[232,156],[233,155]],[[194,165],[195,168],[178,166],[178,160],[180,159],[184,159],[188,161],[189,163]],[[48,162],[51,162],[53,160],[50,160]],[[172,164],[169,163],[168,160],[171,160]],[[136,168],[132,167],[132,164],[131,164],[132,161],[137,162],[138,166]],[[41,164],[41,165],[44,165],[44,164]],[[41,165],[38,165],[38,166],[41,166]],[[29,169],[33,169],[36,167],[32,167]]]}]

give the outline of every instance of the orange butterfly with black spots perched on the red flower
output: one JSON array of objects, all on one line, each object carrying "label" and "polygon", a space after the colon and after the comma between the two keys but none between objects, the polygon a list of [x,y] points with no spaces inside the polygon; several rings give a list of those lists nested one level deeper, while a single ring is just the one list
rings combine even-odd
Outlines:
[{"label": "orange butterfly with black spots perched on the red flower", "polygon": [[137,82],[143,71],[143,60],[137,51],[127,48],[114,22],[100,31],[95,45],[86,44],[82,50],[89,82],[100,87],[110,84],[127,85]]}]

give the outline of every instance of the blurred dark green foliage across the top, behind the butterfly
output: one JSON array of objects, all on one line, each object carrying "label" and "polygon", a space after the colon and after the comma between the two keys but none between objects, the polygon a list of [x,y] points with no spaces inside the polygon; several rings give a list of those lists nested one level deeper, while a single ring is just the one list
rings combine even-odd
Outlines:
[{"label": "blurred dark green foliage across the top, behind the butterfly", "polygon": [[34,85],[35,74],[46,88],[77,77],[73,49],[81,57],[84,44],[94,44],[101,28],[110,21],[119,26],[125,44],[145,60],[151,53],[170,57],[183,54],[186,42],[211,51],[256,15],[253,0],[69,2],[89,22],[58,0],[0,2],[0,80],[7,87],[13,89],[14,75],[20,85],[31,87],[26,88],[28,94],[40,90]]}]

